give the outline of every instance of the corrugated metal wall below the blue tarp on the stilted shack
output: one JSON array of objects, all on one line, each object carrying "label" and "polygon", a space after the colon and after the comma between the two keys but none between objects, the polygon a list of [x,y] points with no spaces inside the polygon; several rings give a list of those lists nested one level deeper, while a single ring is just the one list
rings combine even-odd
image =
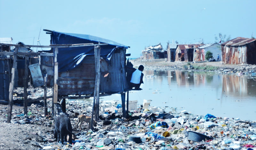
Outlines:
[{"label": "corrugated metal wall below the blue tarp on the stilted shack", "polygon": [[[106,71],[100,75],[100,93],[116,93],[128,88],[125,73],[121,67],[121,54],[119,50],[111,56],[108,64],[108,76]],[[123,52],[125,54],[125,51]],[[125,56],[124,56],[125,57]],[[122,62],[123,64],[125,63]],[[93,94],[95,85],[95,61],[94,56],[86,56],[82,64],[73,70],[59,72],[58,94]]]}]

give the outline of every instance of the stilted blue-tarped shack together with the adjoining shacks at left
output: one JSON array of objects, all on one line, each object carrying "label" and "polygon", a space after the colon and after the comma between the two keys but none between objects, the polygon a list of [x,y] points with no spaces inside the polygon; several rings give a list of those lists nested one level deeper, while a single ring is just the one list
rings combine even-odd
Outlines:
[{"label": "stilted blue-tarped shack together with the adjoining shacks at left", "polygon": [[[49,46],[0,43],[0,99],[9,102],[8,120],[12,112],[13,88],[24,87],[24,115],[28,103],[43,100],[47,115],[46,92],[43,98],[27,99],[28,78],[34,87],[53,87],[52,114],[56,119],[57,105],[66,111],[66,99],[94,97],[92,116],[99,118],[99,97],[121,94],[123,116],[128,114],[128,94],[132,90],[126,79],[128,46],[107,39],[86,35],[44,30],[51,35]],[[31,47],[51,48],[33,52]],[[27,51],[21,52],[21,49]],[[36,59],[36,61],[32,61]],[[22,60],[22,63],[17,63]],[[127,61],[128,62],[128,61]],[[18,65],[17,65],[18,64]],[[22,66],[22,67],[19,67]],[[19,71],[20,70],[20,71]],[[29,71],[28,71],[29,70]],[[20,85],[14,84],[20,82]],[[125,110],[125,93],[127,104]],[[70,96],[72,95],[72,96]],[[95,114],[95,115],[94,115]],[[93,118],[93,117],[92,117]]]}]

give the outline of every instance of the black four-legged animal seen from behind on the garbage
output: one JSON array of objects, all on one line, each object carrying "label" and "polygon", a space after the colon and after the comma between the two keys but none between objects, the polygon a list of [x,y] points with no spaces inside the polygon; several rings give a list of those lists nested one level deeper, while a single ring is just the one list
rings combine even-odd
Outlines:
[{"label": "black four-legged animal seen from behind on the garbage", "polygon": [[54,138],[57,139],[57,142],[60,141],[63,144],[63,141],[67,141],[67,135],[69,136],[68,142],[72,143],[72,125],[68,116],[60,115],[58,119],[56,119],[54,129],[53,129]]}]

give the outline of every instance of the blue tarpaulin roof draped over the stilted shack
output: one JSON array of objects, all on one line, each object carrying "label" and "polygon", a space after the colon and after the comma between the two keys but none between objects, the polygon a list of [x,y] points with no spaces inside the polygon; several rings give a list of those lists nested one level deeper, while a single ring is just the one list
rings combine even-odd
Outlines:
[{"label": "blue tarpaulin roof draped over the stilted shack", "polygon": [[[119,44],[115,41],[103,39],[87,34],[62,33],[53,30],[45,30],[52,33],[52,44],[84,44],[84,43],[107,43],[100,46],[100,56],[103,59],[110,60],[117,47],[127,49],[128,46]],[[68,71],[81,64],[85,56],[94,55],[94,46],[59,48],[57,55],[58,71]]]}]

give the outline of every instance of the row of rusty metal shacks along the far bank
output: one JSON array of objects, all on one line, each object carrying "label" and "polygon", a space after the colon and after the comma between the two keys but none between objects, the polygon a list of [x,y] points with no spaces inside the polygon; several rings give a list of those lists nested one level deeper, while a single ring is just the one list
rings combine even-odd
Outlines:
[{"label": "row of rusty metal shacks along the far bank", "polygon": [[[161,48],[161,49],[156,49]],[[167,56],[157,56],[158,52],[165,54],[161,44],[145,48],[142,51],[144,59],[167,58],[169,62],[200,62],[207,61],[205,54],[207,51],[212,52],[212,56],[224,64],[256,64],[256,39],[237,37],[222,44],[167,44]],[[155,55],[153,55],[155,54]]]}]

